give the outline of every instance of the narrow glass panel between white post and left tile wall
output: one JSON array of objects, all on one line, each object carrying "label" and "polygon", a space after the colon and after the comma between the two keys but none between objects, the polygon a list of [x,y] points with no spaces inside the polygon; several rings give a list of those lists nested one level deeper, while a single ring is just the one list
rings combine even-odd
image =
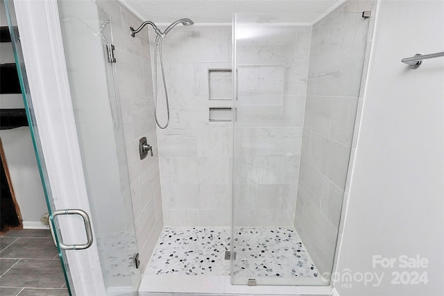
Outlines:
[{"label": "narrow glass panel between white post and left tile wall", "polygon": [[110,16],[92,1],[58,1],[71,99],[107,295],[141,276],[123,125],[114,87]]}]

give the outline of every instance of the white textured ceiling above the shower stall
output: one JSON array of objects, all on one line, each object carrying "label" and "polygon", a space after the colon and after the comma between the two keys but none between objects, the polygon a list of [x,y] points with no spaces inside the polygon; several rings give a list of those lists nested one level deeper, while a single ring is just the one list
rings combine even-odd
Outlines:
[{"label": "white textured ceiling above the shower stall", "polygon": [[312,24],[343,0],[126,0],[123,2],[142,19],[156,23],[169,24],[182,17],[189,17],[196,24],[230,23],[234,12],[253,12],[261,14],[258,17],[259,21]]}]

